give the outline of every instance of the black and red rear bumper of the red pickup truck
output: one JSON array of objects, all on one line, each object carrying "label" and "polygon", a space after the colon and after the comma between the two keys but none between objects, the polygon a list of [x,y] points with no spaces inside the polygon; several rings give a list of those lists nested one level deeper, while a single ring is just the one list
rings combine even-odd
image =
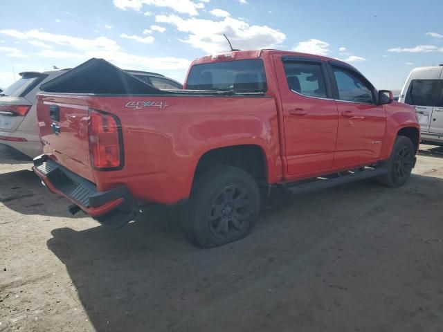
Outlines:
[{"label": "black and red rear bumper of the red pickup truck", "polygon": [[111,219],[127,223],[134,217],[136,204],[125,185],[99,192],[93,183],[45,155],[34,158],[33,169],[48,190],[66,197],[85,213],[98,219],[100,223],[107,223]]}]

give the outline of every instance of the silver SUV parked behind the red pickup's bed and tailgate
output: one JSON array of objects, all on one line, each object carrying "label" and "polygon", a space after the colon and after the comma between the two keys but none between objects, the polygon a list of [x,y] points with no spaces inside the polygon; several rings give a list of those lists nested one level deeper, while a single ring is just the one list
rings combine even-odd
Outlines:
[{"label": "silver SUV parked behind the red pickup's bed and tailgate", "polygon": [[[37,127],[35,95],[41,84],[53,80],[69,69],[26,71],[21,78],[0,92],[0,149],[15,159],[26,160],[42,154]],[[183,89],[183,86],[161,74],[126,71],[157,89]]]}]

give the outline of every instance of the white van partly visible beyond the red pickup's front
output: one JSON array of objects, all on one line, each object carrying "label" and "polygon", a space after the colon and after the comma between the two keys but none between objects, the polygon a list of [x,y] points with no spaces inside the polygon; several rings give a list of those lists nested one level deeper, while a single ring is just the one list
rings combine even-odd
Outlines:
[{"label": "white van partly visible beyond the red pickup's front", "polygon": [[443,65],[413,69],[399,102],[415,106],[423,142],[443,143]]}]

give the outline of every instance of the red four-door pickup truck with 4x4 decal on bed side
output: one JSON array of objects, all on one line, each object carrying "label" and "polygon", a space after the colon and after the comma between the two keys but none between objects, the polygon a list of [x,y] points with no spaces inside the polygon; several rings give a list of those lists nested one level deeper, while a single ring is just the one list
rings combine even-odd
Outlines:
[{"label": "red four-door pickup truck with 4x4 decal on bed side", "polygon": [[[102,59],[42,86],[49,190],[105,225],[141,203],[186,203],[194,243],[251,232],[260,190],[294,193],[374,177],[403,185],[415,165],[415,110],[356,68],[280,50],[233,51],[192,62],[183,91],[160,91]],[[183,216],[185,218],[185,216]]]}]

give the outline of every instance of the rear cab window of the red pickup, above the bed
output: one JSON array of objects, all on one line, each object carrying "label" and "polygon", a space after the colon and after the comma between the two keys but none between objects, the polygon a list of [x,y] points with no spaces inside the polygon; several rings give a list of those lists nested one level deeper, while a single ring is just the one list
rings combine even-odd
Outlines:
[{"label": "rear cab window of the red pickup, above the bed", "polygon": [[237,92],[265,92],[266,75],[262,59],[248,59],[192,66],[186,89]]}]

